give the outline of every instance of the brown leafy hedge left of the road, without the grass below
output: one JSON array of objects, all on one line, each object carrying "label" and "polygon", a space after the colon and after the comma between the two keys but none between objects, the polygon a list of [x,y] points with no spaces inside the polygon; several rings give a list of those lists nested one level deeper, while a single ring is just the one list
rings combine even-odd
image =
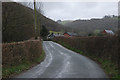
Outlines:
[{"label": "brown leafy hedge left of the road, without the grass below", "polygon": [[2,67],[34,62],[41,53],[42,44],[39,40],[2,44]]}]

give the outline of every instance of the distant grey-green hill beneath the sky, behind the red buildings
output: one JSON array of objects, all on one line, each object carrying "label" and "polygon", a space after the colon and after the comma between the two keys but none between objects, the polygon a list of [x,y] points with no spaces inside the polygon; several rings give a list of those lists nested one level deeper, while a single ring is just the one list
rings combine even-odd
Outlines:
[{"label": "distant grey-green hill beneath the sky, behind the red buildings", "polygon": [[[62,21],[60,24],[63,24]],[[101,31],[104,29],[110,29],[116,32],[118,30],[118,17],[105,16],[102,19],[75,20],[65,23],[63,25],[67,26],[67,28],[72,28],[71,31],[77,32],[81,35],[92,33],[95,30]]]}]

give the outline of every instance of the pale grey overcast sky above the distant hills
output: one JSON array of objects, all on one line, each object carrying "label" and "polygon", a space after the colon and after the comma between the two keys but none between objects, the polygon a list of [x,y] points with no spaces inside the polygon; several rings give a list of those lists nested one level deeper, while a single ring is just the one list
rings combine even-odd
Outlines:
[{"label": "pale grey overcast sky above the distant hills", "polygon": [[44,15],[52,20],[76,20],[118,15],[118,2],[43,2]]}]

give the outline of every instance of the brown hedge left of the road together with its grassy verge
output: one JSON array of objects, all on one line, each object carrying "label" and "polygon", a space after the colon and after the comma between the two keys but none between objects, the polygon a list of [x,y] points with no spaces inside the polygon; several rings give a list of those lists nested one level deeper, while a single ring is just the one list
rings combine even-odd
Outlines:
[{"label": "brown hedge left of the road together with its grassy verge", "polygon": [[40,40],[2,44],[2,77],[28,70],[45,57]]}]

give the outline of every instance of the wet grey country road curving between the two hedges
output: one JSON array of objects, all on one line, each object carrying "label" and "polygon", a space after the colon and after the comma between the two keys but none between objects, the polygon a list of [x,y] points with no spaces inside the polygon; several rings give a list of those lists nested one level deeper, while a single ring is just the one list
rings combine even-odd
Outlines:
[{"label": "wet grey country road curving between the two hedges", "polygon": [[44,41],[45,60],[16,78],[107,78],[98,64],[63,46]]}]

